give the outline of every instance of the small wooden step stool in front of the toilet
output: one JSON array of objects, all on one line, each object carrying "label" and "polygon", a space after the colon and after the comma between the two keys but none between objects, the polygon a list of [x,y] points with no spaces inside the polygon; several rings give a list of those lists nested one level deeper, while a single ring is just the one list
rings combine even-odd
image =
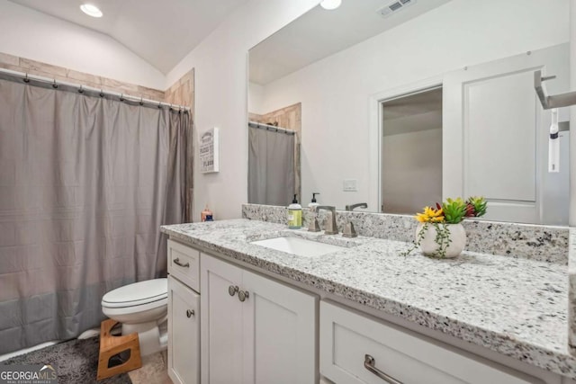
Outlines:
[{"label": "small wooden step stool in front of the toilet", "polygon": [[[112,328],[118,322],[108,318],[100,325],[100,354],[98,356],[97,380],[103,380],[120,373],[136,370],[142,366],[138,334],[114,336]],[[130,350],[130,358],[126,362],[108,367],[112,356]]]}]

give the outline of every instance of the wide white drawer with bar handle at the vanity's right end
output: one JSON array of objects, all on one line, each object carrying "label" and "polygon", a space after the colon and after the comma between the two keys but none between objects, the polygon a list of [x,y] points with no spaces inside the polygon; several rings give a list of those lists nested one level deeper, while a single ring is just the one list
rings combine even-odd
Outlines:
[{"label": "wide white drawer with bar handle at the vanity's right end", "polygon": [[[542,383],[324,301],[320,303],[320,372],[336,383]],[[393,380],[385,380],[385,375]]]}]

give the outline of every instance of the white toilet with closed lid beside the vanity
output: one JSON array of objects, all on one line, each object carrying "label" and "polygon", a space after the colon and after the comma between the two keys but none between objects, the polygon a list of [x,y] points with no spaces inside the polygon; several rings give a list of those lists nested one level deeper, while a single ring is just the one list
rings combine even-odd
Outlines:
[{"label": "white toilet with closed lid beside the vanity", "polygon": [[140,355],[166,350],[167,279],[139,281],[107,292],[102,311],[121,323],[122,335],[138,333]]}]

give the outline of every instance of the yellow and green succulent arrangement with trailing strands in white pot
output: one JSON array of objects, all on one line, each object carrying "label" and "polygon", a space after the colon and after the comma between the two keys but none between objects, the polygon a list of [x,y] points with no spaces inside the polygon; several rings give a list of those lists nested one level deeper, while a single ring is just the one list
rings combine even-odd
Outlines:
[{"label": "yellow and green succulent arrangement with trailing strands in white pot", "polygon": [[[446,224],[460,224],[466,218],[477,218],[486,213],[487,201],[483,197],[470,197],[464,201],[462,198],[446,199],[442,204],[437,203],[436,208],[425,207],[421,213],[416,214],[416,219],[421,223],[416,233],[416,241],[413,246],[402,255],[407,256],[419,247],[428,234],[428,228],[436,229],[434,243],[436,249],[431,255],[440,258],[446,257],[446,251],[453,242],[450,236],[450,228]],[[464,233],[464,231],[463,231]],[[462,248],[464,248],[464,242]],[[462,249],[460,249],[460,252]],[[457,252],[459,254],[460,252]],[[426,254],[426,253],[425,253]]]}]

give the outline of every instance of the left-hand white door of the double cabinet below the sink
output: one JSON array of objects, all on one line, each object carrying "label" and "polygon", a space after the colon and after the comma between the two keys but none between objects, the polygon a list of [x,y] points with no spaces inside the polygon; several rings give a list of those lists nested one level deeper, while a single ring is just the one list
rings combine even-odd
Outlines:
[{"label": "left-hand white door of the double cabinet below the sink", "polygon": [[230,287],[242,282],[242,270],[201,254],[202,384],[242,382],[242,302]]}]

